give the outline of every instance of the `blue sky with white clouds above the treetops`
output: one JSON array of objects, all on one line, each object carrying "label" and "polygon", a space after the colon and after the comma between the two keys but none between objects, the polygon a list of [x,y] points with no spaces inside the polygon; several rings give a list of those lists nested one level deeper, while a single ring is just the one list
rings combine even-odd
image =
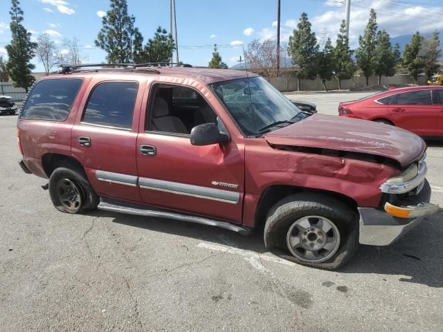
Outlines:
[{"label": "blue sky with white clouds above the treetops", "polygon": [[[105,61],[105,53],[96,48],[94,39],[100,27],[100,12],[109,10],[109,0],[21,0],[24,25],[37,38],[50,34],[62,50],[64,37],[77,37],[88,62]],[[335,39],[345,16],[343,0],[281,0],[281,36],[286,41],[300,17],[307,12],[318,37]],[[157,26],[169,28],[168,0],[128,0],[129,13],[145,40],[154,35]],[[218,44],[221,57],[228,66],[236,64],[242,46],[252,39],[275,38],[276,0],[176,0],[180,60],[206,66]],[[368,21],[369,8],[377,11],[380,28],[391,37],[419,30],[428,33],[443,28],[442,0],[352,0],[350,42],[356,45]],[[6,5],[6,6],[5,6]],[[10,15],[2,1],[0,11],[0,55],[10,42]],[[33,61],[42,71],[37,60]]]}]

